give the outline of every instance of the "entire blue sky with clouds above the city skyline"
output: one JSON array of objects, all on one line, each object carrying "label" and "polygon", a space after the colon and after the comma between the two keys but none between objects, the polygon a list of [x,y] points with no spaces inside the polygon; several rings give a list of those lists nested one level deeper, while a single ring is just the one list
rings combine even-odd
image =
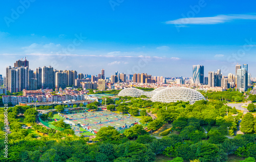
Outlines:
[{"label": "entire blue sky with clouds above the city skyline", "polygon": [[[25,3],[20,3],[25,2]],[[29,3],[28,3],[29,2]],[[106,76],[192,76],[192,65],[256,77],[256,2],[16,1],[0,3],[0,74],[27,56],[30,68],[52,65]],[[79,38],[79,39],[78,39]]]}]

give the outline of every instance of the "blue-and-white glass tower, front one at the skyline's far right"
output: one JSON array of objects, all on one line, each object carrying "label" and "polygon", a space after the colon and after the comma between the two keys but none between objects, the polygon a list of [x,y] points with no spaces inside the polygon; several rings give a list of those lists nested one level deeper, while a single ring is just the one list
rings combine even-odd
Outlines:
[{"label": "blue-and-white glass tower, front one at the skyline's far right", "polygon": [[246,91],[248,88],[248,73],[246,69],[239,68],[237,71],[237,89],[239,91]]}]

